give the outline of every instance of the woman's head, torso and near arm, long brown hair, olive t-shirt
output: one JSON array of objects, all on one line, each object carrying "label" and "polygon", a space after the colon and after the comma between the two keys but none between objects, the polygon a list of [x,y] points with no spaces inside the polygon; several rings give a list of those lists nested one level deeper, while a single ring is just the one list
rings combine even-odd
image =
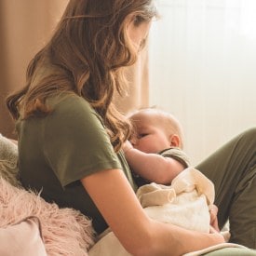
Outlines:
[{"label": "woman's head, torso and near arm, long brown hair, olive t-shirt", "polygon": [[25,187],[81,210],[99,234],[110,226],[133,255],[181,255],[222,236],[145,215],[121,150],[130,126],[113,104],[124,89],[123,67],[136,61],[155,15],[151,0],[71,0],[7,106],[18,120]]}]

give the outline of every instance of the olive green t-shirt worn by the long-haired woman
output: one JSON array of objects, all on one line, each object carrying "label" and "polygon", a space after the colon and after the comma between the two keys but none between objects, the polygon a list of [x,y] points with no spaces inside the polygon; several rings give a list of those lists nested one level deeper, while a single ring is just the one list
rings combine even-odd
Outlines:
[{"label": "olive green t-shirt worn by the long-haired woman", "polygon": [[101,233],[107,224],[80,179],[119,168],[136,189],[126,159],[122,152],[115,154],[100,115],[88,101],[64,95],[48,103],[49,115],[17,122],[20,181],[26,188],[42,190],[48,202],[79,209]]}]

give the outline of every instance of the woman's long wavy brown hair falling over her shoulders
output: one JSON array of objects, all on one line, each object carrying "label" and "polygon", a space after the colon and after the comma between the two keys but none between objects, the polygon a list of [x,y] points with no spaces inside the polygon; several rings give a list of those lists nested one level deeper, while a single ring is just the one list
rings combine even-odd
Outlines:
[{"label": "woman's long wavy brown hair falling over her shoulders", "polygon": [[[71,0],[51,40],[30,62],[25,87],[7,98],[13,118],[47,115],[47,97],[75,93],[101,115],[117,152],[130,125],[112,101],[126,86],[123,67],[137,59],[126,34],[129,14],[138,26],[152,20],[153,0]],[[40,78],[46,67],[47,75]]]}]

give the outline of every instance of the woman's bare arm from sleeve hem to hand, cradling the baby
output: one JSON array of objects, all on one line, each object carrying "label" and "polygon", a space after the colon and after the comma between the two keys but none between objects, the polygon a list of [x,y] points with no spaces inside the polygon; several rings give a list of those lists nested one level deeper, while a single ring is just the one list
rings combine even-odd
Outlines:
[{"label": "woman's bare arm from sleeve hem to hand, cradling the baby", "polygon": [[81,182],[115,236],[132,255],[182,255],[223,242],[218,234],[188,231],[149,219],[119,169],[99,171]]}]

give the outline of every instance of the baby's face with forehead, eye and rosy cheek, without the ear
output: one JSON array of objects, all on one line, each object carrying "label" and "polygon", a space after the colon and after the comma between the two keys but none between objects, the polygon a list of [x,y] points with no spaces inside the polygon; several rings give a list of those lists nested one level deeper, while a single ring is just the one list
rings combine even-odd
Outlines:
[{"label": "baby's face with forehead, eye and rosy cheek, without the ear", "polygon": [[153,114],[135,114],[132,122],[136,128],[130,140],[134,148],[145,153],[158,153],[170,146],[165,129],[161,128]]}]

